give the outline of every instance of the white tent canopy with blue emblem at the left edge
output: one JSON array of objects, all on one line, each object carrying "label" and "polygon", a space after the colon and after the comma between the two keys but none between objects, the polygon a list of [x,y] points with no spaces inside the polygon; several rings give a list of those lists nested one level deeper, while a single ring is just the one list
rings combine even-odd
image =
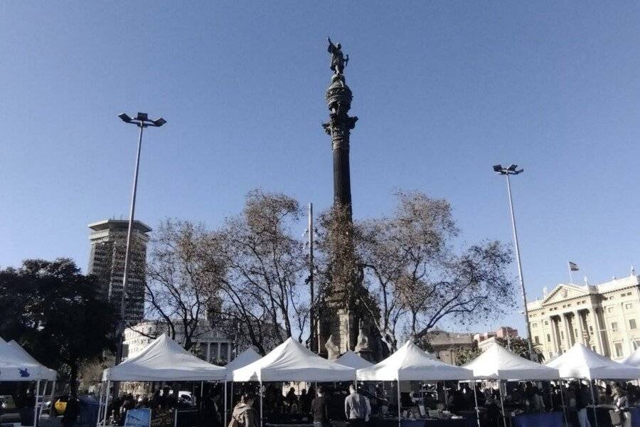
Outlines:
[{"label": "white tent canopy with blue emblem at the left edge", "polygon": [[53,381],[55,371],[36,362],[22,347],[0,339],[0,381]]}]

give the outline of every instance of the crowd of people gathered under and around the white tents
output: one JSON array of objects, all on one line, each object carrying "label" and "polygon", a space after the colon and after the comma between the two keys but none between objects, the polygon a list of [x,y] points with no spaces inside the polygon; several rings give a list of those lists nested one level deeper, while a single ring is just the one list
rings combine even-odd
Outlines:
[{"label": "crowd of people gathered under and around the white tents", "polygon": [[[474,386],[476,392],[474,393]],[[449,384],[440,383],[437,387],[421,389],[419,392],[402,393],[402,411],[419,406],[426,410],[446,410],[453,414],[474,412],[481,408],[481,425],[495,426],[502,423],[505,413],[543,413],[563,411],[570,427],[591,427],[587,408],[592,404],[612,405],[612,421],[623,427],[631,426],[629,408],[640,398],[640,389],[630,383],[599,383],[590,388],[587,381],[573,381],[569,384],[548,382],[514,382],[506,385],[503,394],[496,386],[485,384]],[[250,389],[251,390],[251,389]],[[243,391],[230,396],[231,413],[225,426],[225,408],[223,406],[223,388],[216,386],[208,389],[198,405],[198,415],[203,427],[258,427],[260,424],[260,406],[257,403],[258,390]],[[287,423],[311,421],[314,427],[364,427],[372,414],[377,416],[395,416],[398,411],[396,391],[386,390],[381,384],[369,389],[356,389],[354,384],[348,387],[311,386],[296,391],[293,387],[286,393],[282,385],[265,385],[263,415],[266,423]],[[169,387],[156,390],[150,398],[123,394],[115,399],[110,408],[112,424],[122,426],[127,411],[132,408],[151,408],[171,410],[181,407],[177,393]],[[390,397],[391,396],[391,397]],[[444,396],[444,397],[443,397]],[[393,398],[392,398],[393,397]],[[422,413],[422,416],[425,414]],[[614,424],[615,425],[615,424]],[[65,426],[72,427],[72,426]]]}]

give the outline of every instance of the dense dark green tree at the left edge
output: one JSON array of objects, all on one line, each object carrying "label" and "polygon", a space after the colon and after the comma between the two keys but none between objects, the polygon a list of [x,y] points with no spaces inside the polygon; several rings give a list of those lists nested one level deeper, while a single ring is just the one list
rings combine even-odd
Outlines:
[{"label": "dense dark green tree at the left edge", "polygon": [[0,332],[16,339],[78,389],[78,369],[114,350],[114,307],[98,298],[97,278],[67,258],[25,260],[0,271]]}]

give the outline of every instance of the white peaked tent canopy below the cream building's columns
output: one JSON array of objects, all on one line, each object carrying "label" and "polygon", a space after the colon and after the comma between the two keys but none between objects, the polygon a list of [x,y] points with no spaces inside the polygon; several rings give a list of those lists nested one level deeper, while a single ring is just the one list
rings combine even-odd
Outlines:
[{"label": "white peaked tent canopy below the cream building's columns", "polygon": [[614,362],[580,343],[576,343],[569,351],[548,362],[547,366],[558,369],[560,378],[640,378],[640,369]]}]

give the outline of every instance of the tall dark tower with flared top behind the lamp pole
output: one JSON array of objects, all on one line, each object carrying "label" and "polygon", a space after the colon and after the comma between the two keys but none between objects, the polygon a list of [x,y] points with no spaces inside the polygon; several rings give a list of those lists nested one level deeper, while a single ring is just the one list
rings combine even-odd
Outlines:
[{"label": "tall dark tower with flared top behind the lamp pole", "polygon": [[[89,224],[91,229],[89,274],[98,276],[102,298],[112,302],[118,313],[122,302],[122,276],[128,227],[129,221],[122,219],[107,219]],[[124,316],[127,325],[141,322],[144,317],[146,245],[149,243],[147,235],[149,231],[151,231],[149,226],[140,221],[134,221],[127,280],[127,306]]]}]

